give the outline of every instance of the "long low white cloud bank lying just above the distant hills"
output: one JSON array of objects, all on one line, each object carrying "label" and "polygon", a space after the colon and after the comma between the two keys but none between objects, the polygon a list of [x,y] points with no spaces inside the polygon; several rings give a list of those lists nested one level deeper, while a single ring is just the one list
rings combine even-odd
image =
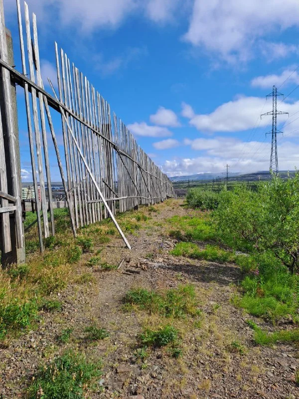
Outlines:
[{"label": "long low white cloud bank lying just above the distant hills", "polygon": [[[177,158],[167,160],[162,165],[168,176],[185,176],[196,173],[219,173],[230,165],[231,172],[257,172],[269,170],[271,143],[249,142],[231,139],[228,145],[223,140],[189,141],[193,148],[207,150],[203,156],[194,158]],[[240,157],[240,149],[246,144],[246,153]],[[225,148],[223,147],[225,145]],[[200,148],[199,148],[200,147]],[[247,151],[248,150],[248,151]],[[278,145],[280,170],[294,170],[299,166],[299,145],[283,142]]]}]

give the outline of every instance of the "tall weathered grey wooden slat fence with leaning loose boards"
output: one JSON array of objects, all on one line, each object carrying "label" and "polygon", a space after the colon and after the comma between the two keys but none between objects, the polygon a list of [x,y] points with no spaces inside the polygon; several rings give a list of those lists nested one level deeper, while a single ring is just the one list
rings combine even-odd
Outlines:
[{"label": "tall weathered grey wooden slat fence with leaning loose boards", "polygon": [[[2,120],[7,121],[10,138],[10,169],[13,183],[12,193],[9,194],[5,169],[7,165],[3,162],[4,130],[0,125],[0,224],[4,237],[3,250],[10,249],[8,212],[15,212],[17,245],[24,245],[20,182],[16,173],[17,156],[11,123],[11,82],[24,88],[40,249],[43,250],[43,236],[55,234],[55,202],[52,201],[47,131],[50,131],[54,144],[74,235],[79,227],[111,217],[130,247],[114,217],[116,211],[124,212],[137,208],[140,204],[154,204],[173,197],[172,184],[137,144],[125,124],[115,113],[111,114],[107,101],[69,60],[66,53],[58,49],[56,43],[58,89],[55,90],[53,82],[49,80],[53,93],[45,91],[40,69],[35,14],[32,14],[31,20],[28,6],[24,2],[23,21],[19,0],[16,0],[16,7],[21,72],[8,62],[3,4],[0,0],[0,67],[5,103],[5,117]],[[62,154],[57,144],[50,109],[61,115],[64,149]],[[40,200],[36,195],[38,190]]]}]

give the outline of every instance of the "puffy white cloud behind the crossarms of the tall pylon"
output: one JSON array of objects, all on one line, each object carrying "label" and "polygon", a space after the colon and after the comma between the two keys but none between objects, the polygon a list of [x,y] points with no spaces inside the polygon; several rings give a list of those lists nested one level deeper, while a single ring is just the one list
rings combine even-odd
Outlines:
[{"label": "puffy white cloud behind the crossarms of the tall pylon", "polygon": [[[298,111],[299,101],[293,104],[284,102],[279,110],[289,112],[290,115]],[[191,126],[202,132],[239,132],[252,129],[257,123],[260,113],[272,110],[272,103],[265,104],[265,98],[239,96],[217,107],[210,114],[195,115],[190,121]],[[288,115],[281,115],[279,122],[288,119]],[[259,126],[267,126],[270,117],[263,117]]]}]

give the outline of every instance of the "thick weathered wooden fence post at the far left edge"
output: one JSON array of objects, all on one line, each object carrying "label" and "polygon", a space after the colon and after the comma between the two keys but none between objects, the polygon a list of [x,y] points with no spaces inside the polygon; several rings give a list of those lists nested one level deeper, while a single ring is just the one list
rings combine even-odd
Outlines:
[{"label": "thick weathered wooden fence post at the far left edge", "polygon": [[[10,32],[6,29],[6,43],[7,43],[7,63],[9,65],[14,65],[13,62],[13,48],[12,48],[12,39]],[[18,138],[18,122],[17,122],[17,108],[16,108],[16,91],[14,83],[11,83],[10,87],[10,106],[12,111],[12,129],[14,133],[14,153],[15,159],[11,159],[13,154],[10,151],[9,144],[9,127],[7,126],[6,120],[6,112],[5,112],[5,101],[7,99],[4,98],[4,84],[3,84],[3,70],[0,69],[0,110],[1,110],[1,118],[2,118],[2,130],[0,134],[3,134],[3,142],[4,142],[4,150],[5,150],[5,157],[6,157],[6,176],[7,176],[7,193],[15,196],[18,192],[18,195],[21,196],[21,166],[20,166],[20,152],[19,152],[19,138]],[[16,176],[13,178],[13,171],[12,166],[16,167]],[[13,179],[15,179],[13,181]],[[18,190],[15,190],[15,181],[18,181]],[[14,204],[15,205],[15,204]],[[20,227],[21,230],[19,231],[20,235],[24,236],[23,225],[20,221],[16,220],[19,218],[19,212],[12,212],[9,214],[9,225],[10,225],[10,242],[11,242],[11,250],[8,252],[3,251],[3,242],[2,237],[0,235],[0,249],[1,249],[1,264],[8,264],[8,263],[23,263],[25,262],[25,246],[23,242],[18,242],[17,238],[17,229],[16,226]],[[0,219],[1,223],[1,219]],[[0,228],[1,231],[1,228]]]}]

